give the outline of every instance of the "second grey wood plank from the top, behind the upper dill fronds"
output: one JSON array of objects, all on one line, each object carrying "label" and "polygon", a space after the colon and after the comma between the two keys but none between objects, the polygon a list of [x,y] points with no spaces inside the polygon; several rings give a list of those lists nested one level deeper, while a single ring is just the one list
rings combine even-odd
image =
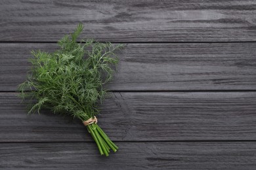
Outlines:
[{"label": "second grey wood plank from the top, behind the upper dill fronds", "polygon": [[[0,91],[26,79],[32,49],[53,43],[1,43]],[[110,90],[255,90],[256,43],[126,44]]]}]

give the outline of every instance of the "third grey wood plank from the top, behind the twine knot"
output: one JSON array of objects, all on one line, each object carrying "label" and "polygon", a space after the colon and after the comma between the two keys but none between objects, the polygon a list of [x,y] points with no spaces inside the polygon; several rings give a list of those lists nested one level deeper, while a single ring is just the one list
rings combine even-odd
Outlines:
[{"label": "third grey wood plank from the top, behind the twine knot", "polygon": [[[114,141],[256,140],[256,92],[112,93],[98,124]],[[91,141],[78,120],[26,114],[0,93],[0,142]]]}]

